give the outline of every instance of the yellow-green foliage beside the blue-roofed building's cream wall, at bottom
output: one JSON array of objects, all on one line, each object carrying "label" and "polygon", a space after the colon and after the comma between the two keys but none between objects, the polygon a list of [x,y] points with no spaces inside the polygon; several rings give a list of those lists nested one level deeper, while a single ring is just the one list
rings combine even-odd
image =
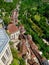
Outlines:
[{"label": "yellow-green foliage beside the blue-roofed building's cream wall, at bottom", "polygon": [[11,65],[26,65],[23,58],[18,57],[18,51],[14,49],[13,42],[10,42],[10,47],[13,55],[13,62]]}]

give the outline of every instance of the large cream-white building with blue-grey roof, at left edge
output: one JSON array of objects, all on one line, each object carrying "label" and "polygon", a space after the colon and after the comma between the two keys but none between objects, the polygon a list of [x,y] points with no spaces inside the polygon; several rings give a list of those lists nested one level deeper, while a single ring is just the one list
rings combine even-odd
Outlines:
[{"label": "large cream-white building with blue-grey roof, at left edge", "polygon": [[0,27],[0,65],[10,65],[12,60],[9,37],[5,30]]}]

